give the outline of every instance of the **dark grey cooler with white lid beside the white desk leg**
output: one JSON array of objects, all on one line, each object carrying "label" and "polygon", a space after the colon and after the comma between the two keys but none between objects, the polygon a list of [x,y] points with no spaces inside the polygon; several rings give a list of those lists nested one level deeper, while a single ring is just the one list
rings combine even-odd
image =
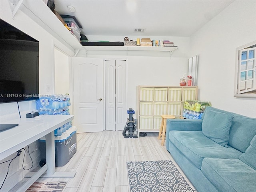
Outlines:
[{"label": "dark grey cooler with white lid beside the white desk leg", "polygon": [[[64,166],[76,153],[76,127],[73,126],[61,136],[55,137],[55,166]],[[45,137],[40,138],[41,158],[46,158]]]}]

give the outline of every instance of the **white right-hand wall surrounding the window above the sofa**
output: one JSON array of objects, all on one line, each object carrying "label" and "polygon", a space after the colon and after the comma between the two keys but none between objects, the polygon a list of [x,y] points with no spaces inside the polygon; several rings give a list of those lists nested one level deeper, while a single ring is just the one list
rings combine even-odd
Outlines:
[{"label": "white right-hand wall surrounding the window above the sofa", "polygon": [[256,40],[256,1],[234,1],[191,36],[190,56],[199,55],[200,100],[256,117],[256,98],[236,98],[236,48]]}]

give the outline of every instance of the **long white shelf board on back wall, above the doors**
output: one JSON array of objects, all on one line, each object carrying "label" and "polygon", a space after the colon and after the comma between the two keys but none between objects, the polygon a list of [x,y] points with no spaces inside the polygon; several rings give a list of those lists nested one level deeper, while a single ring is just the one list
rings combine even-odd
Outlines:
[{"label": "long white shelf board on back wall, above the doors", "polygon": [[147,47],[147,46],[83,46],[88,51],[174,51],[178,47]]}]

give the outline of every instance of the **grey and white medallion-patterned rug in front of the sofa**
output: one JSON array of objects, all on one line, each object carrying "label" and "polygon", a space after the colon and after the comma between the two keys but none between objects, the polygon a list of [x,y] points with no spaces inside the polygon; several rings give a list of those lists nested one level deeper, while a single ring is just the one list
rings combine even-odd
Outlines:
[{"label": "grey and white medallion-patterned rug in front of the sofa", "polygon": [[127,162],[131,192],[196,192],[171,160]]}]

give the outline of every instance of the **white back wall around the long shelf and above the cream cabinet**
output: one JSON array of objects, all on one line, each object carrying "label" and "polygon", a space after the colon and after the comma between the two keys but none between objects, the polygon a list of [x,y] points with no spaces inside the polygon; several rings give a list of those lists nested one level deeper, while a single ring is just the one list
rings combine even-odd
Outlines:
[{"label": "white back wall around the long shelf and above the cream cabinet", "polygon": [[[90,36],[93,40],[124,41],[124,36]],[[141,37],[138,37],[141,38]],[[170,57],[170,52],[144,51],[87,51],[87,57],[103,59],[127,60],[127,110],[136,109],[136,87],[142,86],[179,86],[180,78],[188,73],[188,51],[190,38],[188,37],[150,37],[173,41],[178,46]],[[129,37],[130,40],[136,40]],[[85,51],[77,56],[86,57]],[[135,116],[136,118],[136,113]]]}]

